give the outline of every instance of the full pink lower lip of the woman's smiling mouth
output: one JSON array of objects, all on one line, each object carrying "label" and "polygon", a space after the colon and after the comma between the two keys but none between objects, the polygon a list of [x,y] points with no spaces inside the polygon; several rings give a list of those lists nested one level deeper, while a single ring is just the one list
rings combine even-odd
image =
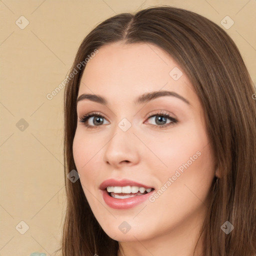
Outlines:
[{"label": "full pink lower lip of the woman's smiling mouth", "polygon": [[146,194],[142,194],[142,195],[135,195],[129,198],[124,198],[124,199],[120,199],[120,198],[114,198],[111,195],[108,194],[108,192],[104,189],[104,190],[100,190],[103,196],[103,199],[105,201],[105,203],[114,209],[128,209],[131,207],[136,206],[137,204],[145,201],[150,194],[152,194],[152,191],[150,191],[149,193]]}]

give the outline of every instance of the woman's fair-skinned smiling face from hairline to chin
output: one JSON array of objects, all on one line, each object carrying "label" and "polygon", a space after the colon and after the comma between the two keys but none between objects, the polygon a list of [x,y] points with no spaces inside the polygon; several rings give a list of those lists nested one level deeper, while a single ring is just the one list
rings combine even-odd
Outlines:
[{"label": "woman's fair-skinned smiling face from hairline to chin", "polygon": [[103,230],[118,241],[189,236],[215,168],[203,109],[181,67],[153,44],[105,45],[87,63],[79,97],[73,156]]}]

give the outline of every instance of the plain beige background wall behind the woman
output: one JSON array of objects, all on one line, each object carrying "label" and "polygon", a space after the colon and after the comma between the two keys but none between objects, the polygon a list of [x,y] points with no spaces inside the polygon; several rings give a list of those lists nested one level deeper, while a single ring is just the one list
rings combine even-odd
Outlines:
[{"label": "plain beige background wall behind the woman", "polygon": [[[255,83],[255,0],[0,0],[0,255],[48,256],[59,244],[64,89],[51,100],[46,94],[65,78],[81,40],[116,13],[163,4],[192,10],[221,27],[228,15],[234,24],[224,29]],[[20,16],[29,21],[23,29]],[[24,234],[20,221],[29,226]]]}]

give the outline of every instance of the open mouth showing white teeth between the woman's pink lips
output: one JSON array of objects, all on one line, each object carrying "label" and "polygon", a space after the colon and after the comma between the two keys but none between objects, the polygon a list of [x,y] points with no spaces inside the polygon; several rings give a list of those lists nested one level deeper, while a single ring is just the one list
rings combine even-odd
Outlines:
[{"label": "open mouth showing white teeth between the woman's pink lips", "polygon": [[105,190],[111,197],[125,199],[129,197],[147,194],[154,190],[154,188],[144,188],[138,186],[107,186]]}]

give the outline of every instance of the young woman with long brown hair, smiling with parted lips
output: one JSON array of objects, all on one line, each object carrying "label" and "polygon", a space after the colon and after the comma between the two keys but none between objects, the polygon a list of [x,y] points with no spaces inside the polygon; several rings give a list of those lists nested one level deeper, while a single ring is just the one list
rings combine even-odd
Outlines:
[{"label": "young woman with long brown hair, smiling with parted lips", "polygon": [[253,95],[234,42],[201,15],[97,25],[65,87],[62,255],[256,254]]}]

